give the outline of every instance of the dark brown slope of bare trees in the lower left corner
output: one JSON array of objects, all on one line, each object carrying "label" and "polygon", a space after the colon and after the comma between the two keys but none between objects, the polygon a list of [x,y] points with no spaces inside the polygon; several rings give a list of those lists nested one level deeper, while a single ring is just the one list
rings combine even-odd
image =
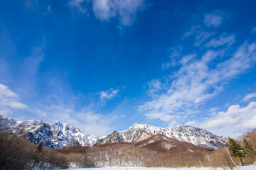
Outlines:
[{"label": "dark brown slope of bare trees in the lower left corner", "polygon": [[68,168],[65,154],[0,132],[0,169]]}]

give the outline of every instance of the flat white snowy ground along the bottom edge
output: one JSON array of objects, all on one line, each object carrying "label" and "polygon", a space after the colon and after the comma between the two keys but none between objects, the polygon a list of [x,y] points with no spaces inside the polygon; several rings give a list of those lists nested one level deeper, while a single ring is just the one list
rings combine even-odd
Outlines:
[{"label": "flat white snowy ground along the bottom edge", "polygon": [[[75,170],[75,169],[74,169]],[[78,169],[82,170],[82,169]],[[105,167],[85,168],[84,170],[223,170],[223,168],[142,168],[142,167]],[[234,170],[238,170],[234,168]],[[256,170],[256,164],[250,166],[239,166],[239,170]]]}]

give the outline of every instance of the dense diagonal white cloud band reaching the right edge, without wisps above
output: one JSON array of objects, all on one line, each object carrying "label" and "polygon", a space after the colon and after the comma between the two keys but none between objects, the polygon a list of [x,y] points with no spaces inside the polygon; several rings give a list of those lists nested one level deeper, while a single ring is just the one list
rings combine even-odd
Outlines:
[{"label": "dense diagonal white cloud band reaching the right edge, without wisps above", "polygon": [[[245,42],[233,54],[225,54],[228,60],[213,67],[223,50],[208,50],[202,56],[196,55],[198,60],[187,59],[189,55],[184,56],[186,59],[182,57],[181,61],[189,62],[181,62],[180,69],[169,75],[169,83],[162,84],[166,90],[139,106],[138,110],[144,112],[146,118],[159,118],[166,122],[177,120],[177,115],[193,114],[198,105],[213,98],[230,79],[243,74],[256,62],[256,44]],[[194,53],[191,55],[195,56]]]}]

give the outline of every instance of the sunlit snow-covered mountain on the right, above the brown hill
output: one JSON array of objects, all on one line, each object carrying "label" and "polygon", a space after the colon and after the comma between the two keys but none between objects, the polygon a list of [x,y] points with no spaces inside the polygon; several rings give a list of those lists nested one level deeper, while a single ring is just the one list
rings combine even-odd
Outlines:
[{"label": "sunlit snow-covered mountain on the right, above the brown hill", "polygon": [[135,123],[128,130],[121,132],[114,131],[112,134],[102,139],[100,143],[112,142],[139,142],[151,135],[164,135],[182,142],[189,142],[193,145],[218,149],[227,143],[225,137],[213,135],[211,132],[192,125],[181,125],[176,128],[160,128],[152,125]]}]

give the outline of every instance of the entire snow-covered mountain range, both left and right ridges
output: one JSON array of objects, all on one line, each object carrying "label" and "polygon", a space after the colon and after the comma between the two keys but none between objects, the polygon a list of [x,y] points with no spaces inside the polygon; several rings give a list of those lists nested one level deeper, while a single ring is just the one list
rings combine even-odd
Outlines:
[{"label": "entire snow-covered mountain range, both left and right ridges", "polygon": [[169,138],[189,142],[193,145],[218,149],[226,144],[225,137],[213,135],[211,132],[191,125],[181,125],[176,128],[160,128],[152,125],[135,123],[128,130],[114,131],[106,137],[89,136],[78,128],[67,123],[45,123],[41,120],[15,121],[0,115],[1,130],[12,135],[18,135],[26,140],[58,149],[70,145],[92,146],[113,142],[139,142],[152,135],[164,135]]}]

